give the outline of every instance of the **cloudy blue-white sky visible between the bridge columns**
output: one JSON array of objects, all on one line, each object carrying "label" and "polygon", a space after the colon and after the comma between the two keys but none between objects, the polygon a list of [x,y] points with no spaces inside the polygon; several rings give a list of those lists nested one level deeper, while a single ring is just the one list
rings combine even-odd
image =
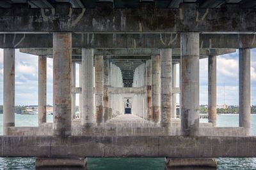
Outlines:
[{"label": "cloudy blue-white sky visible between the bridge columns", "polygon": [[[207,63],[207,59],[200,60],[200,104],[207,104],[208,102]],[[225,104],[238,105],[238,50],[236,53],[217,57],[217,104],[224,103],[224,84]],[[256,48],[251,50],[251,101],[253,105],[256,104],[255,94]],[[15,105],[36,105],[38,104],[37,101],[38,57],[16,50]],[[3,49],[0,49],[0,104],[3,104]],[[52,59],[47,59],[47,104],[52,104]]]}]

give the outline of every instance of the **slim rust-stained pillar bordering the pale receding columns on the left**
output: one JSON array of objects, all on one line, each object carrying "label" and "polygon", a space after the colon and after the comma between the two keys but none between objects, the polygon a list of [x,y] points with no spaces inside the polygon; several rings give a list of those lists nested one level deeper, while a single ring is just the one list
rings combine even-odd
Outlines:
[{"label": "slim rust-stained pillar bordering the pale receding columns on the left", "polygon": [[108,66],[108,60],[105,59],[103,61],[103,121],[106,122],[108,120],[108,111],[109,111],[109,103],[108,103],[108,80],[109,80],[109,66]]}]

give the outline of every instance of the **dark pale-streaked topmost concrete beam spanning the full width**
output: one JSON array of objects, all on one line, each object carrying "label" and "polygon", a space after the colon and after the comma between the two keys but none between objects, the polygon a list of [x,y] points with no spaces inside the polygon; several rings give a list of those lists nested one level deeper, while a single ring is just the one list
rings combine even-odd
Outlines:
[{"label": "dark pale-streaked topmost concrete beam spanning the full width", "polygon": [[[0,8],[0,32],[256,32],[255,8]],[[226,17],[223,17],[226,16]],[[26,21],[26,22],[24,22]],[[159,22],[161,21],[161,22]]]}]

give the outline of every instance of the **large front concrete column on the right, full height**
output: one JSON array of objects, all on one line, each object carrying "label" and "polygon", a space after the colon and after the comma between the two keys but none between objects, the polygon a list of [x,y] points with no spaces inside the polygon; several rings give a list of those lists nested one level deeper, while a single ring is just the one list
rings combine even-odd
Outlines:
[{"label": "large front concrete column on the right, full height", "polygon": [[180,33],[181,53],[181,130],[184,136],[199,131],[199,33]]}]

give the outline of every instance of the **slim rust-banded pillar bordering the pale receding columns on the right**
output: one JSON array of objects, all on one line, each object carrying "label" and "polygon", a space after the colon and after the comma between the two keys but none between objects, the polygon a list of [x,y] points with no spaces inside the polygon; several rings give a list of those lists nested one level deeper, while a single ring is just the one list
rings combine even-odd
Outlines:
[{"label": "slim rust-banded pillar bordering the pale receding columns on the right", "polygon": [[152,120],[152,62],[147,60],[147,120]]}]

